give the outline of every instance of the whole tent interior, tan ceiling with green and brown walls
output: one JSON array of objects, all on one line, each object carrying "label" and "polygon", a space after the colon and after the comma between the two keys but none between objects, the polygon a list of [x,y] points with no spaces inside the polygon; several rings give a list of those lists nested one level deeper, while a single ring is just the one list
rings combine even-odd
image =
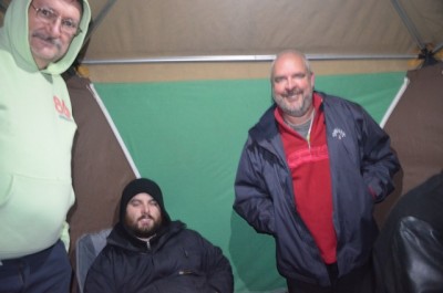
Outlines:
[{"label": "whole tent interior, tan ceiling with green and brown walls", "polygon": [[[0,0],[0,23],[10,1]],[[89,41],[65,75],[79,125],[72,243],[111,227],[124,185],[151,177],[169,214],[224,250],[236,292],[282,291],[272,239],[257,234],[231,203],[247,129],[270,105],[270,61],[288,48],[312,61],[316,88],[362,104],[391,135],[402,171],[375,210],[380,224],[399,197],[443,166],[440,0],[91,7]],[[73,260],[74,245],[70,253]]]}]

